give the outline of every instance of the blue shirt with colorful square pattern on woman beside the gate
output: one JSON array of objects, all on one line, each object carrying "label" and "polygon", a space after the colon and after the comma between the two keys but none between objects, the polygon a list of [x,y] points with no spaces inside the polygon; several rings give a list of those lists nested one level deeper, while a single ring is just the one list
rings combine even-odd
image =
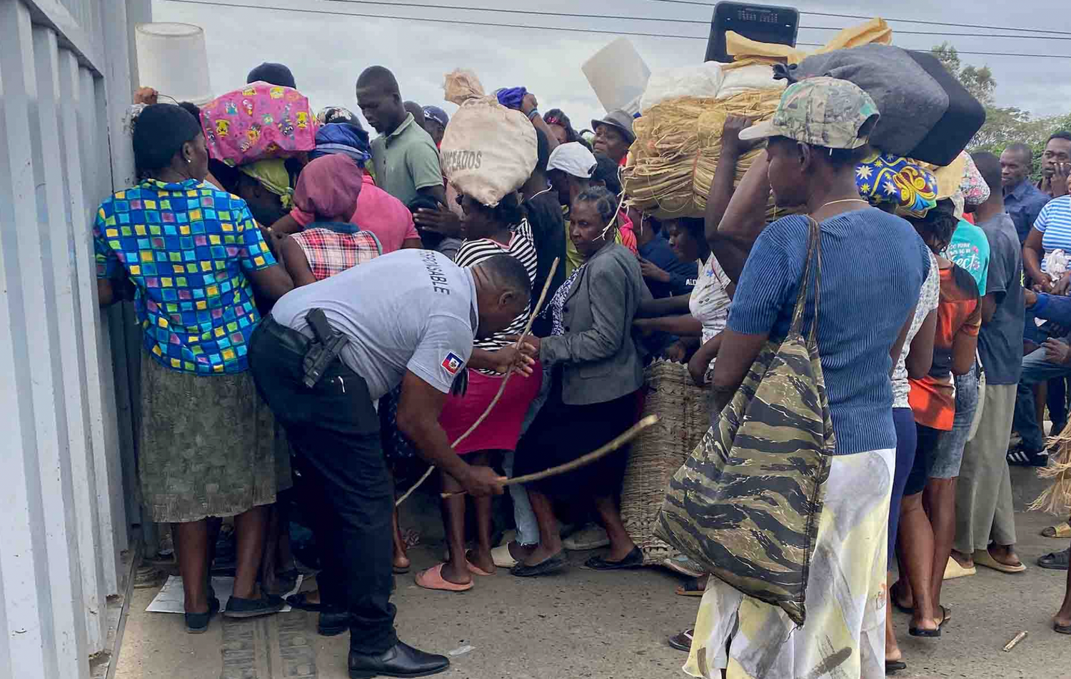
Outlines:
[{"label": "blue shirt with colorful square pattern on woman beside the gate", "polygon": [[198,375],[246,369],[260,315],[245,274],[275,263],[245,201],[205,182],[149,179],[101,203],[96,277],[125,268],[145,348]]}]

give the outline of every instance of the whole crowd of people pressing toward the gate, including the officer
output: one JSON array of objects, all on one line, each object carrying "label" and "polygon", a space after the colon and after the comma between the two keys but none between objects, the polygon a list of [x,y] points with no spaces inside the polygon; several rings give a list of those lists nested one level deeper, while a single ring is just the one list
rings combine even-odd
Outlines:
[{"label": "whole crowd of people pressing toward the gate, including the officer", "polygon": [[[297,89],[282,64],[254,69],[257,81]],[[420,587],[559,572],[568,549],[608,547],[593,570],[643,565],[620,512],[627,447],[528,484],[506,478],[633,425],[654,358],[687,364],[716,425],[763,347],[793,327],[798,296],[836,439],[811,617],[794,632],[780,608],[699,573],[678,589],[704,597],[696,624],[670,639],[691,651],[685,670],[834,676],[835,639],[850,650],[835,676],[895,672],[906,663],[886,592],[909,634],[936,638],[951,617],[945,579],[1027,568],[1009,465],[1047,463],[1046,403],[1054,431],[1067,420],[1071,133],[1049,139],[1040,182],[1024,145],[894,166],[868,144],[873,101],[812,78],[772,122],[726,120],[704,217],[660,218],[622,190],[636,136],[621,110],[586,137],[518,97],[538,161],[487,206],[444,180],[447,112],[405,101],[382,66],[356,86],[375,139],[332,106],[314,151],[239,167],[210,161],[196,106],[151,89],[137,99],[141,179],[101,203],[97,287],[102,305],[132,301],[142,325],[138,472],[149,516],[171,525],[188,632],[220,609],[221,517],[236,535],[222,614],[237,618],[286,603],[295,520],[315,537],[319,589],[289,603],[319,612],[321,634],[350,632],[351,677],[446,669],[398,639],[390,603],[412,543],[395,472],[414,456],[438,471],[447,537]],[[735,186],[757,144],[766,152]],[[922,183],[906,200],[883,195],[889,171]],[[793,214],[768,224],[771,192]],[[812,220],[820,275],[805,285]],[[860,266],[860,253],[879,255]],[[492,500],[507,491],[515,532],[495,544]],[[576,525],[565,538],[562,517]],[[1046,534],[1071,537],[1071,519]],[[1068,555],[1041,565],[1067,569]],[[1071,633],[1071,586],[1054,628]]]}]

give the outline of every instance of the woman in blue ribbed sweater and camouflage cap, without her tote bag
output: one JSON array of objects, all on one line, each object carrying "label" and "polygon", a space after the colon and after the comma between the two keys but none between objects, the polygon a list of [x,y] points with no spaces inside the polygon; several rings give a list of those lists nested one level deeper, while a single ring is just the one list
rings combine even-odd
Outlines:
[{"label": "woman in blue ribbed sweater and camouflage cap, without her tote bag", "polygon": [[[817,323],[836,448],[802,627],[780,607],[710,578],[685,666],[692,676],[885,676],[886,532],[896,446],[889,375],[930,255],[910,224],[859,197],[855,169],[877,118],[873,100],[855,85],[808,78],[788,87],[772,121],[740,133],[744,140],[769,138],[765,163],[779,205],[804,206],[819,225],[821,277],[819,289],[809,286],[803,332]],[[810,232],[803,215],[778,220],[746,256],[713,375],[716,408],[731,399],[767,342],[787,334]],[[860,252],[881,256],[862,267]],[[693,520],[702,530],[708,517]]]}]

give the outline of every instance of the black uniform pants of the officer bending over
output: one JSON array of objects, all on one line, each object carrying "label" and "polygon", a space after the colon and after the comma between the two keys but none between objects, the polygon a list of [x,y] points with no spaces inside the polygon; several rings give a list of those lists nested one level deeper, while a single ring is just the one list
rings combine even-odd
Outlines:
[{"label": "black uniform pants of the officer bending over", "polygon": [[367,383],[337,359],[313,389],[304,386],[311,343],[268,316],[250,340],[250,369],[299,458],[296,486],[320,550],[322,601],[351,614],[351,650],[378,654],[397,643],[390,603],[394,489],[379,417]]}]

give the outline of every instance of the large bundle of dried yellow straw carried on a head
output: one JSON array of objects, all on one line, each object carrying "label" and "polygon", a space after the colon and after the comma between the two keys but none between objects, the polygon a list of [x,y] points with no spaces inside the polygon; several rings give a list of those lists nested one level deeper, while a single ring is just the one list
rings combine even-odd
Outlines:
[{"label": "large bundle of dried yellow straw carried on a head", "polygon": [[[684,96],[655,104],[633,123],[636,141],[622,173],[631,205],[663,218],[703,216],[729,116],[768,120],[781,90],[754,90],[715,100]],[[761,148],[737,164],[739,182]],[[773,214],[771,200],[768,216]]]}]

